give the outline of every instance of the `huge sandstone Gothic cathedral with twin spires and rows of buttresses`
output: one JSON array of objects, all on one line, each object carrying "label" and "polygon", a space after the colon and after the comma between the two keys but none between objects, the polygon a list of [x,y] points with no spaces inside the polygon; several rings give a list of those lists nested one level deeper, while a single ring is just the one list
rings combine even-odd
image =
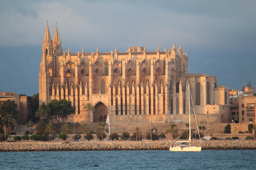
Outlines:
[{"label": "huge sandstone Gothic cathedral with twin spires and rows of buttresses", "polygon": [[[97,123],[186,123],[188,85],[191,111],[200,122],[228,122],[229,89],[217,85],[217,77],[188,73],[188,56],[181,45],[163,51],[129,46],[119,52],[63,51],[55,28],[48,25],[43,40],[39,73],[39,101],[66,99],[76,107],[67,121]],[[200,63],[198,63],[200,67]],[[95,112],[83,110],[86,103]],[[193,104],[192,104],[193,103]],[[193,109],[194,107],[194,109]],[[195,119],[191,117],[191,121]]]}]

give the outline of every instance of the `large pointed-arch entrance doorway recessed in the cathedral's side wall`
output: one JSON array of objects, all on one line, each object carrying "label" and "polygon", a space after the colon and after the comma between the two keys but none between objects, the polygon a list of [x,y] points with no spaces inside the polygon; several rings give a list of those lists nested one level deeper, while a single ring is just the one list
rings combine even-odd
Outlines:
[{"label": "large pointed-arch entrance doorway recessed in the cathedral's side wall", "polygon": [[108,117],[107,107],[102,102],[97,103],[94,107],[95,112],[93,112],[93,123],[99,123],[102,121],[106,122]]}]

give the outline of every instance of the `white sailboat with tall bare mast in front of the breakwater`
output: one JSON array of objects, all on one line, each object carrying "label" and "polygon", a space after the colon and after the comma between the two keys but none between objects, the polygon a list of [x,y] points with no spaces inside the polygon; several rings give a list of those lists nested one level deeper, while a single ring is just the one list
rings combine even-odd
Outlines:
[{"label": "white sailboat with tall bare mast in front of the breakwater", "polygon": [[[201,151],[201,148],[202,146],[192,146],[191,145],[191,130],[190,130],[190,95],[191,95],[191,92],[190,92],[190,84],[188,83],[188,96],[189,96],[189,100],[188,100],[188,105],[189,105],[189,138],[188,138],[188,141],[176,141],[177,145],[176,144],[172,144],[170,146],[170,151],[194,151],[194,152],[200,152]],[[193,104],[193,101],[192,101],[192,104]],[[199,134],[199,131],[198,131],[198,134]],[[200,137],[200,136],[199,136]],[[200,140],[201,142],[201,140]]]}]

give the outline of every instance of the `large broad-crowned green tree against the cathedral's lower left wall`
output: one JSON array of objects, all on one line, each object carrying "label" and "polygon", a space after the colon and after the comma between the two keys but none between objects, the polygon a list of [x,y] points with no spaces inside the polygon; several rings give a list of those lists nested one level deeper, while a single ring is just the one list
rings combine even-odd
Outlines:
[{"label": "large broad-crowned green tree against the cathedral's lower left wall", "polygon": [[48,103],[46,111],[61,126],[61,123],[64,123],[69,115],[74,114],[75,110],[76,107],[72,107],[71,101],[67,101],[66,99],[58,101],[57,99],[54,99]]}]

